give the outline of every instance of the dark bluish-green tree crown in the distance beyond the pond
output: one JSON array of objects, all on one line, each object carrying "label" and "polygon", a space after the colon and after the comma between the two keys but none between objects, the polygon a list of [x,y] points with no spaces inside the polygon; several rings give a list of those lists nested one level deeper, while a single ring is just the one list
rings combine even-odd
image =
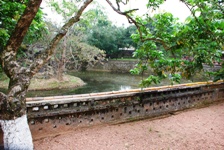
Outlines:
[{"label": "dark bluish-green tree crown in the distance beyond the pond", "polygon": [[117,27],[106,18],[98,19],[97,24],[89,29],[87,42],[99,49],[106,51],[108,57],[116,58],[119,48],[136,47],[130,36],[136,30],[135,27]]}]

